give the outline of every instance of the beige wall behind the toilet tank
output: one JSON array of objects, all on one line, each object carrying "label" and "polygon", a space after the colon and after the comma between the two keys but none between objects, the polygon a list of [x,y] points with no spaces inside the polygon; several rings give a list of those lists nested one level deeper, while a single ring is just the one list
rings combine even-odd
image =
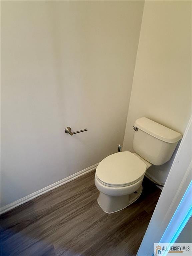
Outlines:
[{"label": "beige wall behind the toilet tank", "polygon": [[[133,151],[134,121],[148,117],[184,133],[191,115],[191,2],[146,1],[123,150]],[[171,162],[148,173],[164,183]]]}]

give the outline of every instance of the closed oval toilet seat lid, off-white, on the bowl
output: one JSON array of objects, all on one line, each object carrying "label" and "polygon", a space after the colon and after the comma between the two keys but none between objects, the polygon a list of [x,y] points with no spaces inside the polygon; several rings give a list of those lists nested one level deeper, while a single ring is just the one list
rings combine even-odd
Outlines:
[{"label": "closed oval toilet seat lid, off-white, on the bowl", "polygon": [[104,158],[96,169],[96,175],[108,186],[125,186],[139,181],[147,169],[146,164],[129,151]]}]

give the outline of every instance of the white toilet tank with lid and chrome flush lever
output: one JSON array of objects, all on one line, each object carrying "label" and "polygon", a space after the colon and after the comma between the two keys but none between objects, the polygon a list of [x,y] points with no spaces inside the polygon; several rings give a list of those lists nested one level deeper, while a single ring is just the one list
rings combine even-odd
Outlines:
[{"label": "white toilet tank with lid and chrome flush lever", "polygon": [[135,121],[133,149],[154,165],[170,160],[182,135],[146,117]]}]

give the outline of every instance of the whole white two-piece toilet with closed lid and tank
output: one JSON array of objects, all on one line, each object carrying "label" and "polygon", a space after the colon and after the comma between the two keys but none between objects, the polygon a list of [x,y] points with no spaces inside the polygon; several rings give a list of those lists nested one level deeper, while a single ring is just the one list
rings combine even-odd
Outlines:
[{"label": "whole white two-piece toilet with closed lid and tank", "polygon": [[146,170],[170,160],[182,135],[146,117],[135,121],[133,149],[104,158],[97,166],[98,204],[106,213],[120,211],[141,195]]}]

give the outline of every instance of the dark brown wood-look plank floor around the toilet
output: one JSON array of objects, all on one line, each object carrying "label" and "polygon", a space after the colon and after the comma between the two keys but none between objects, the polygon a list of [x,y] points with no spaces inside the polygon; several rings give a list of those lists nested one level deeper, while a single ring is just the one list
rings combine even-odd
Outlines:
[{"label": "dark brown wood-look plank floor around the toilet", "polygon": [[135,256],[160,193],[145,178],[136,202],[106,214],[88,173],[2,214],[1,256]]}]

